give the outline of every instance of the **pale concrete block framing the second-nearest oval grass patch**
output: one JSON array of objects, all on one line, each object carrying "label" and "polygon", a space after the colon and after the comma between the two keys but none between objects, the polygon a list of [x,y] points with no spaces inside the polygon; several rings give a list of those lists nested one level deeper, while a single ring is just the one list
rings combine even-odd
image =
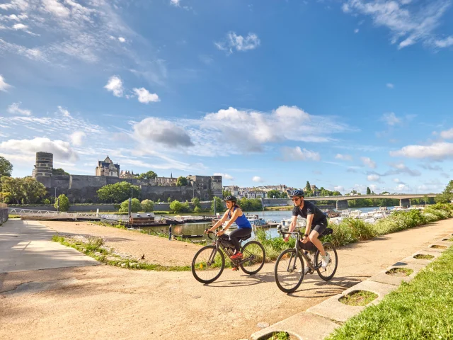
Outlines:
[{"label": "pale concrete block framing the second-nearest oval grass patch", "polygon": [[343,293],[335,295],[330,299],[321,302],[319,305],[309,308],[307,312],[332,319],[336,322],[346,322],[346,320],[348,320],[350,317],[353,317],[355,316],[355,314],[362,312],[362,310],[364,310],[366,306],[344,305],[343,303],[338,301],[340,297],[348,295],[355,290],[368,290],[378,295],[377,299],[370,302],[368,305],[376,305],[384,298],[385,295],[389,294],[392,290],[395,289],[395,285],[387,285],[385,283],[365,280],[351,288],[348,288]]}]

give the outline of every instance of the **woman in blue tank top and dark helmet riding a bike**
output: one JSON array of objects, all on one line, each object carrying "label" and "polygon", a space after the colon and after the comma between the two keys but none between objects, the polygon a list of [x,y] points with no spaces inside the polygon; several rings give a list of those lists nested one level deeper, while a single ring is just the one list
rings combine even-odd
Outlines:
[{"label": "woman in blue tank top and dark helmet riding a bike", "polygon": [[[217,232],[217,236],[220,236],[224,234],[224,232],[233,224],[233,222],[236,222],[236,225],[238,225],[238,229],[233,230],[231,234],[229,234],[229,238],[231,239],[231,243],[234,245],[234,249],[236,250],[234,252],[234,255],[231,256],[231,259],[241,259],[242,258],[242,253],[241,249],[239,246],[239,237],[245,237],[248,236],[252,233],[252,226],[250,222],[247,220],[246,215],[243,214],[241,207],[237,205],[237,198],[234,196],[226,196],[225,198],[225,203],[226,203],[226,212],[222,216],[222,218],[217,221],[212,228],[208,229],[208,231],[212,232],[212,230],[217,229],[221,225],[224,224],[224,222],[229,219],[229,221],[226,223],[226,226],[223,228],[223,230],[220,230]],[[238,268],[234,267],[234,271],[237,271]]]}]

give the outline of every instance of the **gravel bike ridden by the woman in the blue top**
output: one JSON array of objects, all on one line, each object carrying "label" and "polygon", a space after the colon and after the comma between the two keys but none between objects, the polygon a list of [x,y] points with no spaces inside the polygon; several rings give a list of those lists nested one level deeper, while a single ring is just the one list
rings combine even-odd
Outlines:
[{"label": "gravel bike ridden by the woman in the blue top", "polygon": [[[207,230],[207,229],[206,229]],[[214,234],[214,237],[211,237]],[[231,243],[229,236],[222,234],[217,237],[217,233],[208,232],[207,237],[213,239],[214,242],[210,245],[203,246],[193,256],[192,273],[195,279],[201,283],[212,283],[225,268],[225,255],[229,258],[234,254],[234,245]],[[240,237],[239,242],[242,244],[251,237],[251,234],[246,237]],[[264,266],[265,251],[260,242],[249,241],[241,246],[242,259],[230,259],[233,266],[241,267],[244,273],[253,275],[258,273]]]}]

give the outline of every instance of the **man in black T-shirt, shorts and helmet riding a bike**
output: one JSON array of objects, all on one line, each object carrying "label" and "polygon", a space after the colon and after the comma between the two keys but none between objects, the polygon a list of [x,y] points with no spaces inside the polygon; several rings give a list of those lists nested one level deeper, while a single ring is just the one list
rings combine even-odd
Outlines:
[{"label": "man in black T-shirt, shorts and helmet riding a bike", "polygon": [[[321,267],[326,268],[330,257],[324,251],[323,244],[318,239],[319,234],[322,234],[327,228],[326,215],[313,203],[305,202],[304,191],[302,190],[294,190],[291,193],[291,200],[294,203],[294,208],[292,209],[292,220],[288,232],[293,232],[296,228],[297,216],[306,218],[305,234],[302,242],[306,243],[310,241],[319,249],[322,260]],[[289,234],[285,237],[285,242],[288,242],[288,238]],[[307,271],[307,268],[305,268],[305,271]]]}]

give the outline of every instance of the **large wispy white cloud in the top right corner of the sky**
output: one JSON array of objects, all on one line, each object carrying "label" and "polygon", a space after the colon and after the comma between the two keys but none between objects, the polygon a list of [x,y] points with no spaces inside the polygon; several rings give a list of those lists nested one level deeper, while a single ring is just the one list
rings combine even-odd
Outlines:
[{"label": "large wispy white cloud in the top right corner of the sky", "polygon": [[425,45],[446,47],[447,43],[435,40],[433,35],[442,16],[447,12],[450,1],[433,0],[423,6],[416,1],[403,0],[401,4],[394,0],[348,0],[343,4],[343,11],[352,15],[371,16],[376,26],[384,26],[391,31],[391,43],[399,41],[398,48],[408,47],[416,42]]}]

